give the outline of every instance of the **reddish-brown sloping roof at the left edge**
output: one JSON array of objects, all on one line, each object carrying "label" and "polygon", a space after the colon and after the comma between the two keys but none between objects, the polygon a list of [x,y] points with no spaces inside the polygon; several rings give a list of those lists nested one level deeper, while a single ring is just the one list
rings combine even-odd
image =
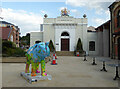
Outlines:
[{"label": "reddish-brown sloping roof at the left edge", "polygon": [[8,39],[11,33],[11,30],[12,30],[11,28],[0,27],[0,34],[2,34],[0,35],[0,37],[4,40]]}]

